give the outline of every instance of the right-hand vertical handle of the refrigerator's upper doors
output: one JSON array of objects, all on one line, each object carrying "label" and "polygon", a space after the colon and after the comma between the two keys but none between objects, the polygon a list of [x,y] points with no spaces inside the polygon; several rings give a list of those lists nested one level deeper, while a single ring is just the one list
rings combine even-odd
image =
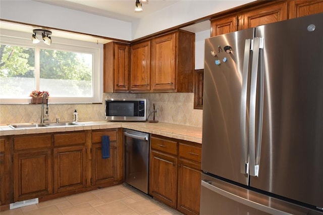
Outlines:
[{"label": "right-hand vertical handle of the refrigerator's upper doors", "polygon": [[[255,37],[250,83],[250,121],[249,121],[249,174],[258,176],[261,147],[262,112],[263,112],[263,38]],[[258,71],[258,69],[260,71]],[[259,78],[258,78],[259,76]],[[257,103],[257,80],[259,80]],[[256,108],[258,118],[256,119]],[[257,121],[256,121],[257,120]],[[257,133],[256,133],[257,132]],[[255,146],[257,145],[257,147]],[[255,151],[257,149],[257,151]]]}]

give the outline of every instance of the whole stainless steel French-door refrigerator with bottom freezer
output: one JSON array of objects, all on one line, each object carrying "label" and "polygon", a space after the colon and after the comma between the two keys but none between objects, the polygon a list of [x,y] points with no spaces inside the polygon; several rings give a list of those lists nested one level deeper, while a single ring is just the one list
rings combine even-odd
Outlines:
[{"label": "whole stainless steel French-door refrigerator with bottom freezer", "polygon": [[323,213],[323,14],[205,40],[201,214]]}]

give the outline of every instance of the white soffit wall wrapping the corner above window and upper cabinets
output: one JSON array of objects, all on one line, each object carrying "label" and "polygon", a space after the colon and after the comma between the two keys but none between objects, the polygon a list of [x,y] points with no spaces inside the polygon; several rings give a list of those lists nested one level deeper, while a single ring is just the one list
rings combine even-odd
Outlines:
[{"label": "white soffit wall wrapping the corner above window and upper cabinets", "polygon": [[1,0],[0,17],[50,28],[133,40],[253,1],[183,0],[130,23],[31,0]]}]

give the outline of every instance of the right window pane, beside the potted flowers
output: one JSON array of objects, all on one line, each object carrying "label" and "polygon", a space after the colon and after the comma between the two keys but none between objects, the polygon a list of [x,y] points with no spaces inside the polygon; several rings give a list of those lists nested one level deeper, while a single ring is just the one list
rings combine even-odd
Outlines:
[{"label": "right window pane, beside the potted flowers", "polygon": [[92,97],[92,55],[40,49],[39,88],[52,97]]}]

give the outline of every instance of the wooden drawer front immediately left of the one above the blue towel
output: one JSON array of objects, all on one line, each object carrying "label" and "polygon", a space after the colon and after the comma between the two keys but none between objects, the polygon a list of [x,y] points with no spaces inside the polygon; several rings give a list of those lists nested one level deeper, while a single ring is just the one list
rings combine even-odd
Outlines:
[{"label": "wooden drawer front immediately left of the one above the blue towel", "polygon": [[84,143],[85,143],[84,132],[54,135],[54,146],[75,145],[75,144],[84,144]]}]

